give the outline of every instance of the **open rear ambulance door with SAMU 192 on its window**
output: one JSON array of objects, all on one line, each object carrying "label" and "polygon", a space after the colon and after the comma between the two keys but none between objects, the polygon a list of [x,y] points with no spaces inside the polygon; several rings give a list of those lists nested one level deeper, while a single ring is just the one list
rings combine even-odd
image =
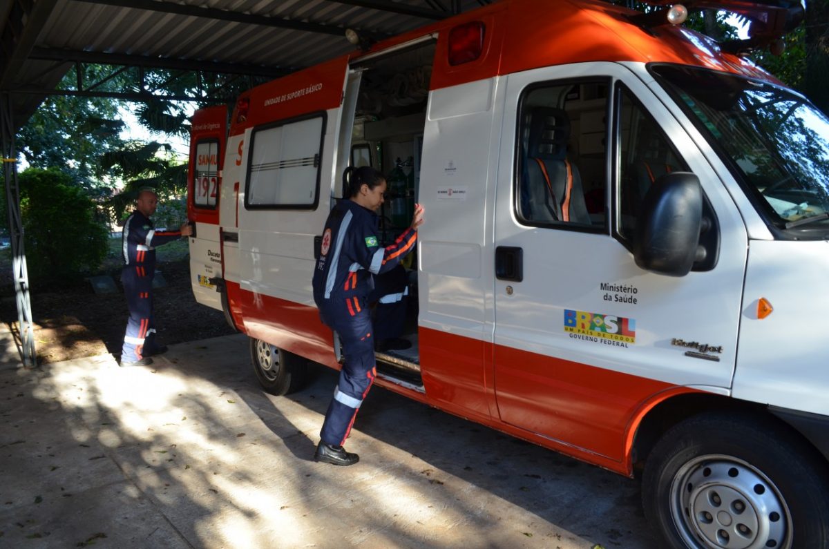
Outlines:
[{"label": "open rear ambulance door with SAMU 192 on its window", "polygon": [[226,137],[225,105],[196,110],[191,119],[187,170],[187,218],[195,229],[190,238],[190,283],[198,303],[219,310],[222,271],[218,202]]}]

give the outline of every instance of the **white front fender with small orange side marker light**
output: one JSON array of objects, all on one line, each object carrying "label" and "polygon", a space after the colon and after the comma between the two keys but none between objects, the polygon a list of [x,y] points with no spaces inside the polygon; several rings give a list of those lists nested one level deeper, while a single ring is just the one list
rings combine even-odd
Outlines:
[{"label": "white front fender with small orange side marker light", "polygon": [[[735,397],[829,415],[827,272],[826,240],[750,243]],[[763,319],[760,298],[774,309]]]}]

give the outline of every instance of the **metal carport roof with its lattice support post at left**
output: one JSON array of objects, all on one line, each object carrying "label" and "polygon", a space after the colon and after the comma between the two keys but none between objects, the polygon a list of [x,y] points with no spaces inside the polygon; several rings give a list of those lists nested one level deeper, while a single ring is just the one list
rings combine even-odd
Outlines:
[{"label": "metal carport roof with its lattice support post at left", "polygon": [[[22,246],[14,135],[51,94],[158,99],[143,70],[273,78],[342,55],[347,28],[378,39],[422,27],[489,0],[0,0],[0,136],[23,363],[35,348]],[[104,90],[76,64],[140,67],[133,90]],[[77,70],[76,74],[82,74]],[[210,100],[211,92],[170,97]],[[226,98],[224,98],[226,99]]]}]

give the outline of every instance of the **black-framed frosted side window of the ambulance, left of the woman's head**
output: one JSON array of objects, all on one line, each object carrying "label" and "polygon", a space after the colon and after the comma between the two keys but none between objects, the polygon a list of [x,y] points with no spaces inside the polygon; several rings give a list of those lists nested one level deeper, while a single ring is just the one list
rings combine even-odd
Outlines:
[{"label": "black-framed frosted side window of the ambulance, left of the woman's head", "polygon": [[255,129],[245,206],[316,207],[324,129],[324,114]]}]

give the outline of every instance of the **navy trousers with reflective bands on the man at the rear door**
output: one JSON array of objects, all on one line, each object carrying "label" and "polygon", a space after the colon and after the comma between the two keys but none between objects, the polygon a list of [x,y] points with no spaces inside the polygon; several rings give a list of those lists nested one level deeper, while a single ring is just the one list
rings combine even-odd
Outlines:
[{"label": "navy trousers with reflective bands on the man at the rear door", "polygon": [[135,362],[141,359],[155,333],[153,279],[139,277],[134,269],[126,268],[121,272],[121,282],[129,309],[121,361]]}]

